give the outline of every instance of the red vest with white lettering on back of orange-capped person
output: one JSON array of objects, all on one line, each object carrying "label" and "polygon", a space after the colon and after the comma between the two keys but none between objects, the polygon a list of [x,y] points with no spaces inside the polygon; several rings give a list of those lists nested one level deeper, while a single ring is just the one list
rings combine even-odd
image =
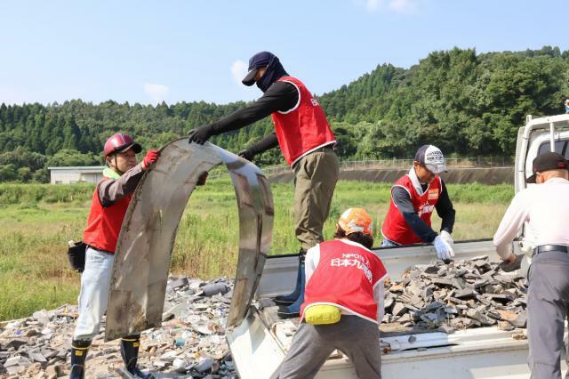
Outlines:
[{"label": "red vest with white lettering on back of orange-capped person", "polygon": [[381,259],[357,243],[340,239],[320,244],[320,261],[304,292],[304,311],[317,304],[335,305],[377,323],[373,287],[387,276]]}]

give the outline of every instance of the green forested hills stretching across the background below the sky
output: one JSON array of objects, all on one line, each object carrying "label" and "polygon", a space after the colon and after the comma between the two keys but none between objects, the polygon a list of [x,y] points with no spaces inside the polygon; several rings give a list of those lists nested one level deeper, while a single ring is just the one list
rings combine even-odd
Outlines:
[{"label": "green forested hills stretching across the background below the sky", "polygon": [[[310,78],[301,78],[310,85]],[[410,69],[383,64],[349,85],[317,96],[338,137],[342,159],[412,157],[423,143],[445,155],[512,155],[525,115],[565,111],[569,51],[432,52]],[[223,117],[243,102],[180,102],[156,107],[74,100],[0,106],[0,181],[45,181],[48,165],[100,163],[111,133],[132,133],[145,149]],[[273,130],[270,118],[212,142],[238,151]],[[262,165],[278,164],[278,149]]]}]

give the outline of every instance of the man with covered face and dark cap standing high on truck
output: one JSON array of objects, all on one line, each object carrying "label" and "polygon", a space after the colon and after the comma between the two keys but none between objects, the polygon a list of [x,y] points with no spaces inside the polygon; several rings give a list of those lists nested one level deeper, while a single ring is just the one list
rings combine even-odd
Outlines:
[{"label": "man with covered face and dark cap standing high on truck", "polygon": [[263,92],[257,101],[212,125],[192,130],[189,142],[203,144],[212,135],[241,129],[268,115],[273,118],[275,133],[242,150],[239,156],[251,160],[278,144],[294,171],[295,234],[301,243],[299,270],[293,293],[275,299],[282,305],[279,317],[291,318],[299,315],[304,301],[304,255],[310,247],[324,242],[322,229],[339,176],[333,150],[336,138],[318,101],[299,79],[286,73],[274,54],[258,52],[249,60],[243,84],[255,83]]}]

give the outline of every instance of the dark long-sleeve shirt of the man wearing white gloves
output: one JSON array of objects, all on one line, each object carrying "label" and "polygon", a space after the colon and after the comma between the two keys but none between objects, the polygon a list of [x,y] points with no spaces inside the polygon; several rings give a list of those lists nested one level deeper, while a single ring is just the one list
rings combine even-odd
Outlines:
[{"label": "dark long-sleeve shirt of the man wearing white gloves", "polygon": [[[445,181],[441,180],[441,184],[441,195],[440,198],[438,198],[435,209],[437,210],[438,216],[442,219],[441,230],[446,230],[449,233],[452,233],[456,212],[454,211],[451,198],[448,196]],[[428,184],[421,184],[421,187],[423,190],[426,190]],[[417,214],[417,210],[413,208],[411,197],[405,189],[401,187],[394,187],[391,190],[391,198],[393,198],[393,202],[397,206],[397,209],[399,209],[399,212],[401,212],[405,218],[405,222],[407,222],[417,237],[421,238],[425,242],[433,242],[433,240],[437,238],[437,232],[423,222],[421,217],[419,217],[419,214]]]}]

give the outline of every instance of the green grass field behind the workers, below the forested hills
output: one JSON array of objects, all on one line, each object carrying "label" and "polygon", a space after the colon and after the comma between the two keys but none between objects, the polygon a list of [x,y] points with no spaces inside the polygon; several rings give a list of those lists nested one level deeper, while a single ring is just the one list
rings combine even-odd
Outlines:
[{"label": "green grass field behind the workers, below the forested hills", "polygon": [[[341,212],[365,207],[377,230],[389,206],[389,184],[341,181],[336,188],[325,237]],[[293,228],[293,185],[271,186],[275,227],[271,254],[299,249]],[[76,302],[79,275],[68,268],[67,242],[81,239],[93,186],[0,184],[0,320]],[[457,212],[455,239],[491,238],[513,196],[510,185],[449,185]],[[437,215],[435,229],[440,225]],[[238,218],[228,179],[196,189],[180,222],[172,271],[200,278],[231,277],[236,264]],[[376,238],[376,245],[381,237]]]}]

